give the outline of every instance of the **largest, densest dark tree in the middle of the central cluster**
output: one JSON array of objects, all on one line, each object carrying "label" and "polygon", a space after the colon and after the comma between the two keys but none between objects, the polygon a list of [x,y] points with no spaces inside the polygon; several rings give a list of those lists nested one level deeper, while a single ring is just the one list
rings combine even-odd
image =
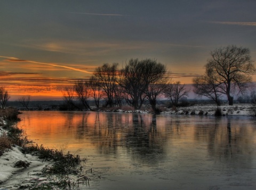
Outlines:
[{"label": "largest, densest dark tree in the middle of the central cluster", "polygon": [[[140,109],[143,101],[148,97],[150,104],[153,103],[155,109],[156,96],[161,92],[161,88],[157,83],[161,80],[166,73],[166,67],[157,63],[153,59],[130,59],[120,71],[118,79],[119,85],[128,94],[126,101],[129,102],[134,109]],[[154,87],[154,88],[153,88]],[[160,91],[159,91],[160,90]],[[154,95],[153,94],[154,91]],[[147,92],[147,93],[146,93]],[[130,98],[130,99],[129,99]]]}]

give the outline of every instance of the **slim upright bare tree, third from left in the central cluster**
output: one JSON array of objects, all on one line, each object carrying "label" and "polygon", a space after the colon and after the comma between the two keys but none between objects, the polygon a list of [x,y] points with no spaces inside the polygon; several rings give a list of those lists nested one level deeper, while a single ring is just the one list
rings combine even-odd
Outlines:
[{"label": "slim upright bare tree, third from left in the central cluster", "polygon": [[92,93],[91,96],[94,99],[96,107],[99,108],[100,100],[102,98],[102,89],[101,89],[100,80],[95,76],[91,76],[89,79],[89,85]]}]

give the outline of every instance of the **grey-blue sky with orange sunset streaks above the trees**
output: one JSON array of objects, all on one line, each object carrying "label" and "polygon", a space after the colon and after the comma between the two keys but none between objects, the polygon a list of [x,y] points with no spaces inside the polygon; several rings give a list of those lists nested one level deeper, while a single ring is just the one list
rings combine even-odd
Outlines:
[{"label": "grey-blue sky with orange sunset streaks above the trees", "polygon": [[10,100],[58,100],[95,67],[122,68],[131,58],[157,59],[174,81],[191,84],[216,48],[249,48],[256,60],[255,7],[254,0],[2,0],[0,86]]}]

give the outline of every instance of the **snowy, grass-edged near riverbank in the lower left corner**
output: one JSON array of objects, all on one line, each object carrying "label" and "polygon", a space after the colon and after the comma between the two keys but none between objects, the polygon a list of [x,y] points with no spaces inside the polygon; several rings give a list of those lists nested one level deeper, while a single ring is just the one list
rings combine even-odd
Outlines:
[{"label": "snowy, grass-edged near riverbank in the lower left corner", "polygon": [[29,141],[15,126],[18,114],[0,113],[0,189],[79,189],[90,180],[82,172],[86,159]]}]

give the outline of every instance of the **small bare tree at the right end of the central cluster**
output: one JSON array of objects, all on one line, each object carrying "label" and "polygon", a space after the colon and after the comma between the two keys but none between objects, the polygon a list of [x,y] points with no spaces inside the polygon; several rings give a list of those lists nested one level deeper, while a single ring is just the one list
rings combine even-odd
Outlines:
[{"label": "small bare tree at the right end of the central cluster", "polygon": [[170,83],[165,90],[165,97],[169,98],[173,106],[178,106],[179,100],[182,97],[188,97],[190,89],[186,89],[185,84],[181,84],[180,81]]}]

